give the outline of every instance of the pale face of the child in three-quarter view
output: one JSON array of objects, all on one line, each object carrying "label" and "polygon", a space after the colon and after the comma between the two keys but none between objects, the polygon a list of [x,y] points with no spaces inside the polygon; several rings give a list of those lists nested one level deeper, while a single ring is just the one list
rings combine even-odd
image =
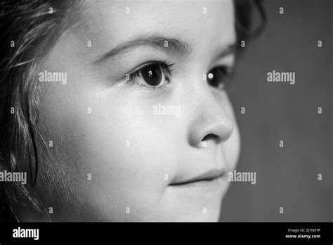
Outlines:
[{"label": "pale face of the child in three-quarter view", "polygon": [[[213,68],[233,65],[233,53],[218,54],[235,44],[234,18],[228,0],[84,6],[80,25],[60,37],[39,71],[67,73],[66,84],[41,82],[44,139],[57,155],[45,168],[58,177],[39,187],[48,189],[41,196],[53,207],[51,219],[218,220],[227,173],[179,183],[235,168],[240,137],[233,108],[226,91],[203,79],[223,79]],[[99,60],[132,39],[141,40]],[[174,52],[176,39],[188,51]],[[150,62],[174,65],[171,74],[151,65],[126,76]]]}]

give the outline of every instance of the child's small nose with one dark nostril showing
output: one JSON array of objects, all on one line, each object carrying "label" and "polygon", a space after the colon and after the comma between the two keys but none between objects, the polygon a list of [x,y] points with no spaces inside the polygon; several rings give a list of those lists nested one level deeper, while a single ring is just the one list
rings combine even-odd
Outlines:
[{"label": "child's small nose with one dark nostril showing", "polygon": [[[223,95],[226,96],[226,95]],[[223,104],[209,92],[195,103],[188,130],[188,143],[197,148],[225,142],[233,132],[234,122]]]}]

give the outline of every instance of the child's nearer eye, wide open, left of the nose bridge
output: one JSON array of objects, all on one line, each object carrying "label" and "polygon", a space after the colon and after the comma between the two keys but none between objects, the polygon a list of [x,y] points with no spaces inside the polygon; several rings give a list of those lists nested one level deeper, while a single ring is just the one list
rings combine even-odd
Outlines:
[{"label": "child's nearer eye, wide open, left of the nose bridge", "polygon": [[142,87],[162,87],[170,82],[172,65],[174,64],[165,62],[148,63],[129,74],[126,80]]}]

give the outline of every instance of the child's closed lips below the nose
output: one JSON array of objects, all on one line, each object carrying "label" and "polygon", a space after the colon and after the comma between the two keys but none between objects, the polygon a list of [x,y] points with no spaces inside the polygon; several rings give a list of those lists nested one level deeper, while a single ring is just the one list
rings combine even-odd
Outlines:
[{"label": "child's closed lips below the nose", "polygon": [[221,182],[223,176],[225,175],[226,171],[213,169],[207,172],[204,172],[201,175],[197,175],[195,177],[191,177],[185,180],[176,180],[171,182],[169,185],[171,187],[181,187],[181,186],[194,186],[197,184],[218,184]]}]

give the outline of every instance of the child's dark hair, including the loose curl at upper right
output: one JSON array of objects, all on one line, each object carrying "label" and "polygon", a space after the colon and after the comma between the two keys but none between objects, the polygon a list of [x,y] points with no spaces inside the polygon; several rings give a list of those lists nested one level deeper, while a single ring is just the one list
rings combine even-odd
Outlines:
[{"label": "child's dark hair, including the loose curl at upper right", "polygon": [[[25,185],[0,182],[0,222],[15,221],[13,203],[25,201],[45,212],[34,195],[39,165],[39,84],[34,70],[72,24],[68,10],[73,6],[77,4],[66,0],[0,2],[0,171],[28,173]],[[235,0],[238,40],[253,35],[249,32],[253,6],[266,20],[260,1]]]}]

